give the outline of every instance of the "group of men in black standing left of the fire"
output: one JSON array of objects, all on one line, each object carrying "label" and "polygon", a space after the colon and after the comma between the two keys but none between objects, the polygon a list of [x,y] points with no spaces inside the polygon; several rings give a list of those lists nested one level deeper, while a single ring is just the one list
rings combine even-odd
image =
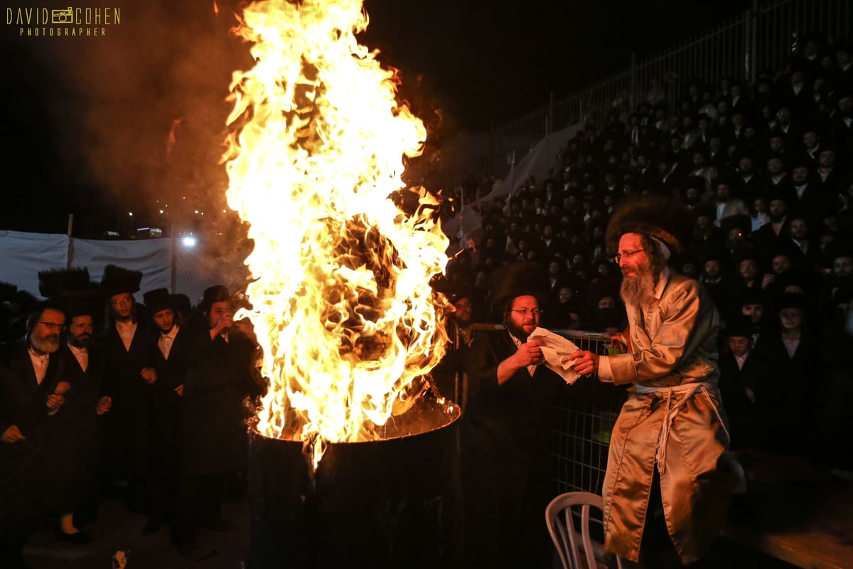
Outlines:
[{"label": "group of men in black standing left of the fire", "polygon": [[46,520],[87,543],[106,496],[148,514],[143,534],[168,523],[184,553],[201,528],[228,529],[221,506],[242,491],[247,418],[265,391],[236,299],[213,286],[192,308],[159,288],[138,304],[142,272],[112,264],[101,282],[86,269],[38,276],[46,300],[19,294],[3,322],[0,566],[22,566]]}]

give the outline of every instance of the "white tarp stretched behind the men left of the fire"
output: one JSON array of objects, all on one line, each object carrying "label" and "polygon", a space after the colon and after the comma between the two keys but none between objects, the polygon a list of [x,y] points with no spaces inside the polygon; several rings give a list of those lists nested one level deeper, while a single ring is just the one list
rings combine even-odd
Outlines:
[{"label": "white tarp stretched behind the men left of the fire", "polygon": [[[90,241],[67,235],[0,231],[0,282],[38,294],[38,271],[85,267],[99,282],[107,264],[141,270],[136,299],[154,288],[184,293],[195,304],[207,287],[223,284],[235,291],[246,282],[241,255],[210,258],[172,239]],[[174,260],[174,264],[173,264]]]}]

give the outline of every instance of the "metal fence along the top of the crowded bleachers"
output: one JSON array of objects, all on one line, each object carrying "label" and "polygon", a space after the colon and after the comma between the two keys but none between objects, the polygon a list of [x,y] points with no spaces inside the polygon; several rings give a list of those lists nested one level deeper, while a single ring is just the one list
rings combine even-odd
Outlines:
[{"label": "metal fence along the top of the crowded bleachers", "polygon": [[630,112],[652,100],[675,106],[688,81],[728,76],[754,82],[762,69],[783,70],[803,49],[804,37],[849,44],[850,0],[754,1],[751,9],[708,32],[636,61],[588,88],[552,99],[531,113],[497,126],[484,147],[472,148],[474,171],[505,177],[537,142],[568,126],[601,125],[607,113]]}]

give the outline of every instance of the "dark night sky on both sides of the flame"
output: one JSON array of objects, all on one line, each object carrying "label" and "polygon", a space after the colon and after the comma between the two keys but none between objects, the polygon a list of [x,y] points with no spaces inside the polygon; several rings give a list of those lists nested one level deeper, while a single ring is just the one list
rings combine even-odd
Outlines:
[{"label": "dark night sky on both sides of the flame", "polygon": [[[360,40],[400,70],[401,96],[436,136],[452,136],[541,107],[551,92],[626,67],[632,50],[651,55],[744,4],[367,0]],[[118,6],[122,20],[103,38],[20,37],[18,8],[68,5]],[[166,202],[184,229],[200,206],[212,223],[227,183],[218,159],[230,73],[251,67],[228,33],[235,6],[220,1],[216,15],[213,0],[5,3],[0,229],[62,233],[72,212],[74,235],[95,237],[169,224],[155,212]]]}]

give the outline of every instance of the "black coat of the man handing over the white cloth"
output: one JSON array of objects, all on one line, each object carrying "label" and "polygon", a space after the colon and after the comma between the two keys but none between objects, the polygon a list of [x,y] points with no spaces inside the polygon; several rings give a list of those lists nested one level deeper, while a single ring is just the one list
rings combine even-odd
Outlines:
[{"label": "black coat of the man handing over the white cloth", "polygon": [[466,557],[483,566],[536,566],[547,557],[550,431],[566,383],[539,366],[497,385],[517,348],[505,331],[474,336],[462,416]]}]

